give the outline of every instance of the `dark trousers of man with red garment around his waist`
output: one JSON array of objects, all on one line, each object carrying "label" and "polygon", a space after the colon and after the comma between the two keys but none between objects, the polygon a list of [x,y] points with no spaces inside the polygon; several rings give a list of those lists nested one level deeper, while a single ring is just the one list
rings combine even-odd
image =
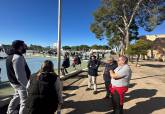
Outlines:
[{"label": "dark trousers of man with red garment around his waist", "polygon": [[117,91],[112,94],[113,114],[123,114],[123,105],[120,105],[120,96]]}]

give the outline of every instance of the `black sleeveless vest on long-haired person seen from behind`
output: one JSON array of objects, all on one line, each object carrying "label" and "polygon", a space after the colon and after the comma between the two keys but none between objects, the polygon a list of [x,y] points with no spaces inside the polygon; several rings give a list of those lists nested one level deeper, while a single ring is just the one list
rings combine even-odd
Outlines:
[{"label": "black sleeveless vest on long-haired person seen from behind", "polygon": [[57,76],[43,73],[39,79],[30,79],[26,108],[28,114],[54,114],[58,107],[58,94],[55,88]]}]

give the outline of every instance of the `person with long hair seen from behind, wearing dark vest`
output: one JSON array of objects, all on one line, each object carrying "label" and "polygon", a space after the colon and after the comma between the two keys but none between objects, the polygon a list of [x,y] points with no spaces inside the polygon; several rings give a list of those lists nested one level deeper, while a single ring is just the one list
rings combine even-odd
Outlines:
[{"label": "person with long hair seen from behind, wearing dark vest", "polygon": [[52,61],[46,60],[27,85],[28,114],[54,114],[62,105],[62,83],[54,72]]}]

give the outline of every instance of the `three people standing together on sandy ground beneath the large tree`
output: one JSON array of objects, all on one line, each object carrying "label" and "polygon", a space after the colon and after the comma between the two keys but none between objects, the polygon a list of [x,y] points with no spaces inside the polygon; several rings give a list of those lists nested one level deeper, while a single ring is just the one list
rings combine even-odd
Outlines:
[{"label": "three people standing together on sandy ground beneath the large tree", "polygon": [[86,91],[92,90],[93,94],[97,94],[97,76],[98,67],[104,65],[103,79],[106,88],[105,98],[110,98],[113,105],[114,114],[123,114],[124,94],[128,91],[129,81],[132,71],[128,65],[128,58],[120,56],[118,61],[113,57],[108,57],[106,62],[100,62],[95,55],[91,56],[88,62],[88,87]]}]

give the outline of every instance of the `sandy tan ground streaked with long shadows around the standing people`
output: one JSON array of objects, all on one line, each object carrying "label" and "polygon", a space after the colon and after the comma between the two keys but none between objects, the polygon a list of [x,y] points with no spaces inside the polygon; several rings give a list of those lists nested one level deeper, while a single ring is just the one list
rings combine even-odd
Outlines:
[{"label": "sandy tan ground streaked with long shadows around the standing people", "polygon": [[[144,64],[144,63],[143,63]],[[125,96],[125,114],[165,114],[165,64],[145,63],[144,66],[131,65],[133,76]],[[97,83],[99,93],[85,91],[87,73],[80,74],[79,80],[65,85],[62,114],[111,114],[111,100],[105,100],[105,88],[101,72]],[[76,78],[76,77],[75,77]]]}]

